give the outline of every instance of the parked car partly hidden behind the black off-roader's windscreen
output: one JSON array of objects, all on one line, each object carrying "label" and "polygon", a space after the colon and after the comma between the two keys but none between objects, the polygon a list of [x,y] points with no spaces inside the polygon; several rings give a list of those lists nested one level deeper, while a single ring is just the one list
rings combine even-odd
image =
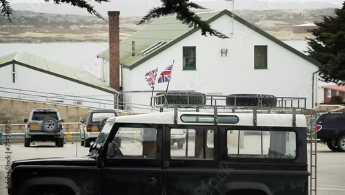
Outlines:
[{"label": "parked car partly hidden behind the black off-roader's windscreen", "polygon": [[81,145],[90,147],[90,143],[95,142],[106,119],[117,115],[117,110],[115,109],[92,109],[88,111],[84,118],[80,119]]}]

